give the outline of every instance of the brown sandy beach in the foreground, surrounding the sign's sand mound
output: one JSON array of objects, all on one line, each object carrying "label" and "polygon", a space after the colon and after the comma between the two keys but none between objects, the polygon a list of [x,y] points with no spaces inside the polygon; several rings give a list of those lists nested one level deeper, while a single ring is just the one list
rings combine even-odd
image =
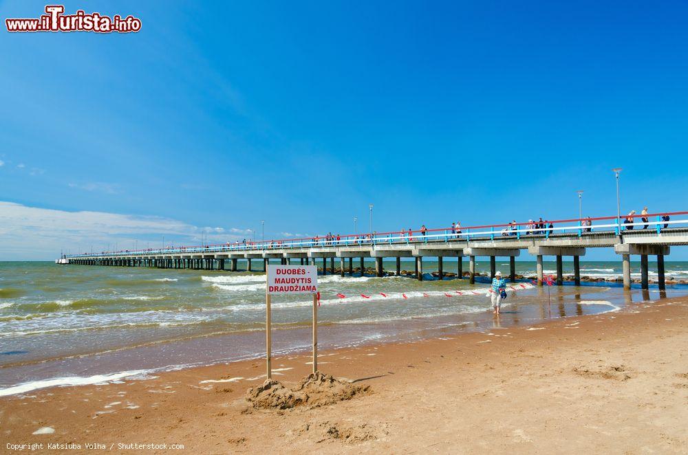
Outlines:
[{"label": "brown sandy beach in the foreground, surrounding the sign's sand mound", "polygon": [[[686,453],[685,346],[688,298],[531,327],[495,321],[486,333],[321,353],[321,370],[372,390],[331,406],[245,412],[264,361],[235,362],[0,398],[0,441],[9,453],[8,443],[83,452],[92,452],[86,443],[167,444],[147,450],[160,453],[178,443],[203,454]],[[274,377],[295,384],[308,362],[275,357]],[[40,428],[54,433],[32,434]]]}]

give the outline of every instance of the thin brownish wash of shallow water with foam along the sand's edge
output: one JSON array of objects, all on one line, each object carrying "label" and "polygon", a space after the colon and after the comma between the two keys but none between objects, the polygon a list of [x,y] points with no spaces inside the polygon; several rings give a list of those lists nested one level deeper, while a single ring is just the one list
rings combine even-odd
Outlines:
[{"label": "thin brownish wash of shallow water with foam along the sand's edge", "polygon": [[[537,288],[530,287],[526,290],[537,291]],[[541,292],[541,290],[539,291]],[[630,296],[598,296],[599,288],[591,287],[590,293],[576,294],[575,296],[555,297],[552,302],[555,311],[550,310],[548,314],[538,310],[539,304],[533,304],[530,300],[533,295],[528,293],[520,299],[512,297],[504,304],[504,314],[502,315],[502,326],[524,327],[533,324],[550,323],[561,318],[570,318],[574,315],[583,314],[603,314],[619,311],[621,307],[632,304]],[[585,298],[587,296],[587,298]],[[571,300],[574,297],[574,300]],[[641,298],[639,294],[636,297]],[[647,297],[643,296],[645,300]],[[514,300],[515,299],[515,300]],[[627,299],[627,300],[622,300]],[[610,302],[610,300],[612,300]],[[566,305],[566,309],[564,307]],[[575,308],[574,308],[575,307]],[[518,310],[516,318],[515,310]],[[358,348],[361,346],[379,346],[382,344],[396,344],[407,341],[418,341],[433,339],[444,335],[462,336],[466,333],[489,331],[493,325],[493,315],[487,307],[477,308],[477,311],[465,313],[453,313],[442,315],[426,315],[423,318],[404,318],[392,320],[376,320],[360,324],[350,324],[347,322],[321,321],[319,323],[319,333],[321,335],[321,349],[339,348]],[[349,333],[348,338],[342,336]],[[310,337],[310,324],[285,324],[284,326],[273,326],[273,337],[279,342],[290,340],[290,345],[283,344],[279,348],[273,348],[275,352],[281,351],[283,355],[299,355],[308,351],[305,343],[299,343]],[[338,334],[338,335],[337,335]],[[187,370],[202,366],[214,366],[221,364],[231,364],[241,362],[246,359],[260,359],[261,348],[264,349],[264,330],[251,330],[246,332],[224,332],[208,333],[191,337],[183,337],[178,340],[159,340],[147,342],[141,345],[122,346],[120,348],[108,349],[98,353],[83,353],[68,355],[66,357],[54,357],[50,359],[37,359],[29,362],[17,362],[5,364],[0,367],[0,372],[8,374],[10,377],[22,377],[30,373],[32,368],[40,366],[45,370],[50,364],[58,366],[63,362],[69,363],[71,368],[57,367],[66,374],[45,375],[35,377],[29,381],[8,382],[0,389],[0,397],[12,396],[17,393],[29,393],[36,390],[43,390],[45,384],[56,386],[70,386],[81,384],[94,384],[103,382],[108,377],[117,379],[120,375],[147,377],[150,375],[164,374],[169,371]],[[299,346],[303,344],[303,346]],[[244,353],[239,355],[237,352],[228,351],[222,357],[196,357],[195,362],[187,362],[186,359],[193,359],[194,351],[217,351],[218,346],[238,346],[237,352],[241,352],[247,346],[261,346],[257,352]],[[168,364],[150,364],[149,359],[158,357],[155,352],[175,351],[175,358],[169,358]],[[138,357],[136,357],[138,353]],[[152,357],[151,357],[152,356]],[[98,359],[99,368],[92,368],[93,362]],[[122,362],[123,359],[129,359]],[[132,362],[131,359],[136,359]],[[89,365],[92,367],[87,368]],[[114,368],[103,369],[104,365],[114,366]],[[72,371],[88,371],[84,375],[74,375]],[[133,372],[133,373],[132,373]],[[99,380],[98,380],[99,379]]]}]

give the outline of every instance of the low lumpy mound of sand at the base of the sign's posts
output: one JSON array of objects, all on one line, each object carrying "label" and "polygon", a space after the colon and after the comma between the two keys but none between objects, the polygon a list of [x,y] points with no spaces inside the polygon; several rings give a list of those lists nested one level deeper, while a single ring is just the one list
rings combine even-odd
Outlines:
[{"label": "low lumpy mound of sand at the base of the sign's posts", "polygon": [[316,372],[301,379],[295,388],[286,388],[279,381],[265,381],[246,392],[246,401],[254,409],[285,410],[297,406],[318,408],[338,401],[367,395],[370,386],[356,386],[332,375]]}]

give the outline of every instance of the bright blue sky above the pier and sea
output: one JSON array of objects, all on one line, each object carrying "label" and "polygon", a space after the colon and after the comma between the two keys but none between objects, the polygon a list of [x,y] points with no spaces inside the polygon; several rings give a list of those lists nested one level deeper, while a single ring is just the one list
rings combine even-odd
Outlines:
[{"label": "bright blue sky above the pier and sea", "polygon": [[[576,190],[613,215],[614,166],[622,212],[688,208],[685,1],[79,8],[142,30],[0,32],[0,201],[35,209],[4,227],[6,258],[261,219],[266,237],[348,233],[369,203],[378,231],[577,217]],[[63,223],[21,224],[45,210]],[[75,231],[62,212],[81,211],[157,221]]]}]

